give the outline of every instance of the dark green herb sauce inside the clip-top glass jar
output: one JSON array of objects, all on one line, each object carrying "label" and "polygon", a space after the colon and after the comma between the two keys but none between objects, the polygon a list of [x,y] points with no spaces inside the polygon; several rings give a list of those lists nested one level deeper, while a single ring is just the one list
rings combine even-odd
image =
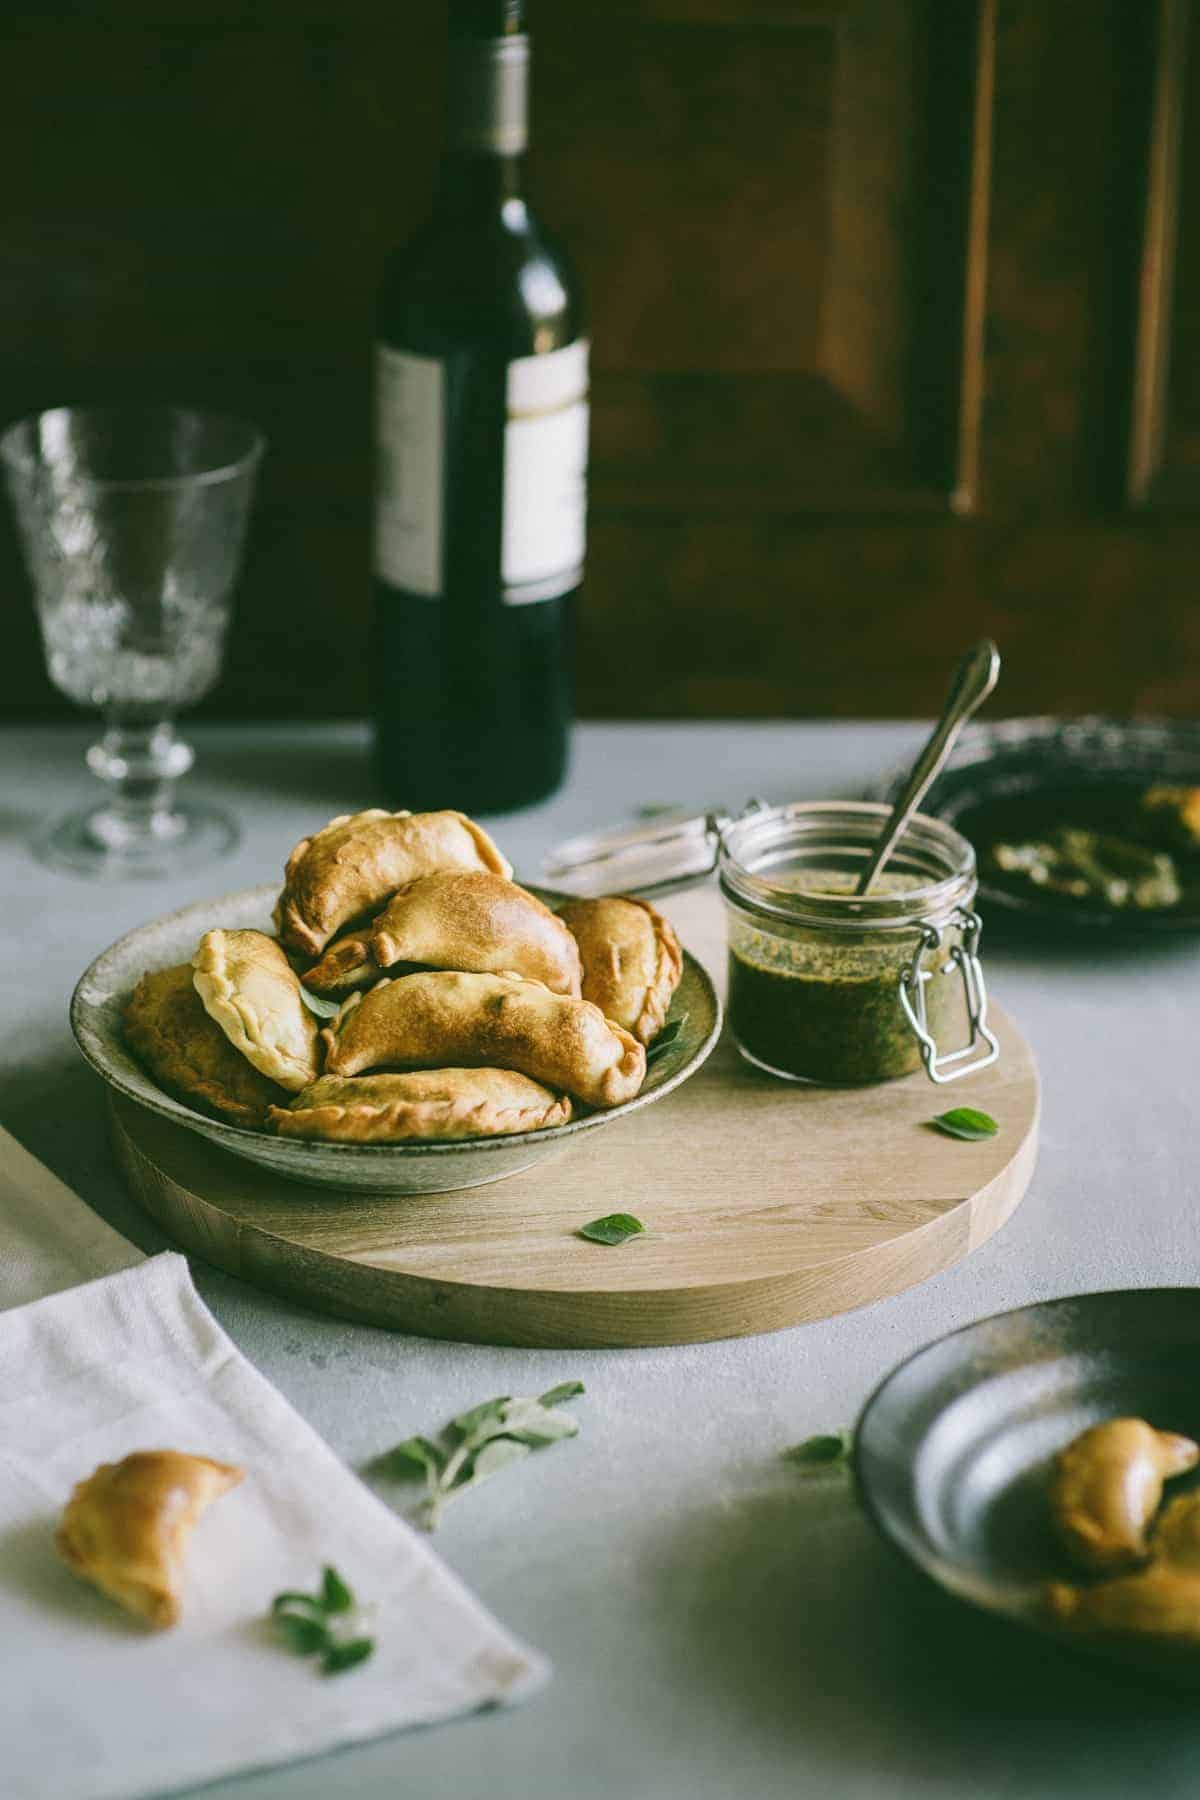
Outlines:
[{"label": "dark green herb sauce inside the clip-top glass jar", "polygon": [[[838,869],[797,869],[774,878],[792,893],[849,896],[855,875]],[[921,887],[921,877],[883,871],[873,896]],[[880,931],[772,929],[747,916],[730,925],[729,1019],[738,1044],[772,1075],[858,1085],[909,1075],[921,1066],[916,1033],[900,1003],[900,979],[919,934]],[[966,1031],[961,983],[950,950],[957,934],[927,959],[928,1024],[939,1044],[961,1042]]]}]

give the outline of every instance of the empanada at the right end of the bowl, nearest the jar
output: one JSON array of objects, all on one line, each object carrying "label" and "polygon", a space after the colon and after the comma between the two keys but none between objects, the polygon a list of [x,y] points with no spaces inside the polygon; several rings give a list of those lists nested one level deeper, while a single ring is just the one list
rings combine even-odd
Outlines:
[{"label": "empanada at the right end of the bowl, nearest the jar", "polygon": [[671,923],[648,900],[569,900],[558,914],[583,959],[583,997],[642,1044],[662,1030],[684,972]]}]

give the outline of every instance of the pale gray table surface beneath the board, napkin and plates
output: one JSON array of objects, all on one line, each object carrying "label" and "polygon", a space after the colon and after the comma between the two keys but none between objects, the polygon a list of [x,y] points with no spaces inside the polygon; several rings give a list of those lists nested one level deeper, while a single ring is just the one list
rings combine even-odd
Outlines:
[{"label": "pale gray table surface beneath the board, napkin and plates", "polygon": [[[157,913],[272,878],[297,837],[367,792],[356,727],[205,727],[194,740],[189,779],[237,814],[237,851],[173,882],[88,884],[25,848],[50,810],[86,796],[86,731],[0,733],[0,1121],[144,1249],[166,1240],[110,1165],[99,1085],[67,1030],[76,976]],[[495,830],[533,877],[551,844],[639,803],[856,794],[918,740],[916,725],[588,725],[565,790]],[[1126,1687],[957,1607],[874,1539],[842,1485],[806,1483],[781,1462],[788,1444],[853,1420],[900,1357],[957,1325],[1054,1294],[1200,1278],[1196,949],[991,941],[986,954],[1040,1057],[1040,1165],[991,1242],[896,1300],[723,1345],[524,1352],[342,1325],[194,1265],[232,1337],[353,1467],[493,1393],[572,1375],[588,1388],[581,1436],[464,1499],[437,1539],[552,1658],[552,1683],[513,1712],[205,1793],[1200,1791],[1193,1701]],[[613,1199],[597,1195],[597,1211]]]}]

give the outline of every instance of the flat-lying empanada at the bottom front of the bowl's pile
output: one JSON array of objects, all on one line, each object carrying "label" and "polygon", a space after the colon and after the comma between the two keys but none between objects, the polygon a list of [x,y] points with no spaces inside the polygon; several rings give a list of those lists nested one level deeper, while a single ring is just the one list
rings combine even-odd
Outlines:
[{"label": "flat-lying empanada at the bottom front of the bowl's pile", "polygon": [[272,1107],[282,1138],[408,1143],[414,1138],[502,1138],[565,1125],[570,1100],[515,1069],[414,1069],[410,1075],[322,1075],[288,1107]]}]

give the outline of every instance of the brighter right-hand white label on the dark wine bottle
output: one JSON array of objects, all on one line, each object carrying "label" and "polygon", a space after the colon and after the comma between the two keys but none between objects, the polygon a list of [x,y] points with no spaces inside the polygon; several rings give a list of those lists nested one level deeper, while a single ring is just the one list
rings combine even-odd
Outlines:
[{"label": "brighter right-hand white label on the dark wine bottle", "polygon": [[552,599],[583,574],[588,468],[588,346],[509,364],[504,427],[504,599]]}]

